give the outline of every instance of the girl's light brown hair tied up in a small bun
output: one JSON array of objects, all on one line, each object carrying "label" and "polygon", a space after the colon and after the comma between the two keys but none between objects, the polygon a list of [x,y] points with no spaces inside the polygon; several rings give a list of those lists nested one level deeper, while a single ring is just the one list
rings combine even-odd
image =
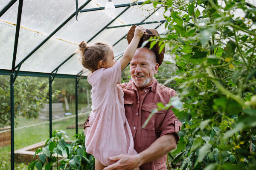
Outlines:
[{"label": "girl's light brown hair tied up in a small bun", "polygon": [[76,53],[80,52],[79,61],[84,68],[93,72],[98,69],[99,61],[103,60],[103,62],[106,62],[111,49],[112,47],[105,42],[95,42],[92,45],[88,45],[86,42],[82,41]]}]

